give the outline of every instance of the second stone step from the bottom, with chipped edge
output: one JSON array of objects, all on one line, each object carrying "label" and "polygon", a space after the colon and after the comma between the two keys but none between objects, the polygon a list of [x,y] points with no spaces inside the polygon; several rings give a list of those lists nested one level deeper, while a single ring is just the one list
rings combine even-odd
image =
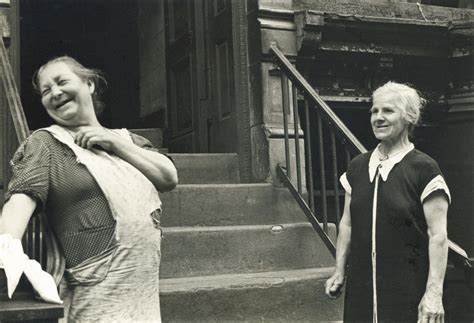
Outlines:
[{"label": "second stone step from the bottom, with chipped edge", "polygon": [[[331,225],[335,235],[335,226]],[[164,228],[161,278],[329,267],[310,223]]]}]

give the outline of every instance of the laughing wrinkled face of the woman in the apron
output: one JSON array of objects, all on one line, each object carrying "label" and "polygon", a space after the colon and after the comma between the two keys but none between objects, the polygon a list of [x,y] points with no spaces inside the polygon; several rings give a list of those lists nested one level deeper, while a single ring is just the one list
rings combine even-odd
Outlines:
[{"label": "laughing wrinkled face of the woman in the apron", "polygon": [[84,82],[63,62],[47,65],[39,74],[41,103],[57,124],[87,125],[94,120],[94,84]]}]

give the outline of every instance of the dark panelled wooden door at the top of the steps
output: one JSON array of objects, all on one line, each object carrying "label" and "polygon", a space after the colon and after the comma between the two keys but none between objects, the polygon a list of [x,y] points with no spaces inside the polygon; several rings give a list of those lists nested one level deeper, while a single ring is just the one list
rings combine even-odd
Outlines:
[{"label": "dark panelled wooden door at the top of the steps", "polygon": [[171,151],[235,152],[230,0],[168,0],[166,15]]}]

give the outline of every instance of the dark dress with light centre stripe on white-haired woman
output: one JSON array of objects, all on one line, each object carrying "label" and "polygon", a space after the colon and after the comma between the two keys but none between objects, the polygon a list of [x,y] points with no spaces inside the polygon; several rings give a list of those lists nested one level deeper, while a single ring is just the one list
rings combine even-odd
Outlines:
[{"label": "dark dress with light centre stripe on white-haired woman", "polygon": [[[368,165],[372,152],[350,163],[351,245],[348,259],[345,322],[372,322],[372,209],[375,180]],[[414,149],[378,183],[376,286],[378,321],[416,322],[429,270],[427,224],[421,195],[441,175],[437,163]]]}]

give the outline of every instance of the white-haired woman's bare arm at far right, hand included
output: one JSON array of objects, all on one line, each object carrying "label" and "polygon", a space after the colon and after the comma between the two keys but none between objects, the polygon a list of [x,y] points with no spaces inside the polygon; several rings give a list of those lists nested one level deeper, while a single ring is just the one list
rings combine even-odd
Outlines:
[{"label": "white-haired woman's bare arm at far right, hand included", "polygon": [[437,319],[438,322],[438,319],[444,321],[443,282],[448,261],[446,194],[441,190],[430,194],[423,202],[423,211],[428,226],[430,267],[425,294],[418,307],[418,321]]}]

